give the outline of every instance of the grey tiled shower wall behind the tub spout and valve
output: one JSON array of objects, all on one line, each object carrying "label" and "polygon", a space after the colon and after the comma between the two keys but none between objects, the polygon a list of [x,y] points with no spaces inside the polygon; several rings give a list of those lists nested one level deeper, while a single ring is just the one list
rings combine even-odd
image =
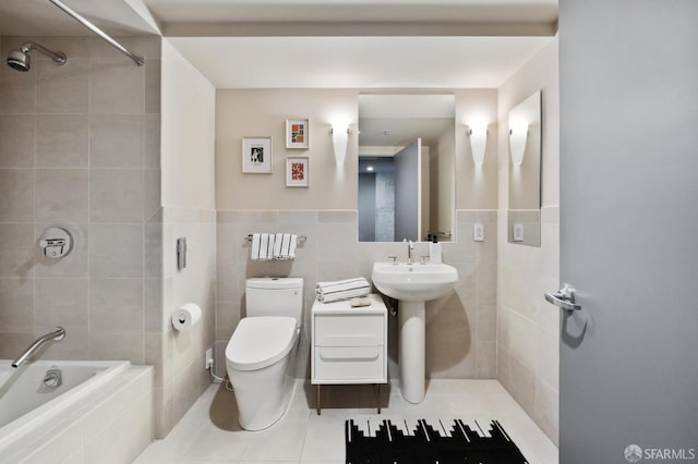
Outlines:
[{"label": "grey tiled shower wall behind the tub spout and valve", "polygon": [[[160,205],[160,39],[120,38],[139,68],[97,37],[2,37],[1,53],[33,40],[68,54],[55,65],[0,69],[0,357],[57,325],[68,337],[44,357],[143,364],[146,221]],[[55,260],[38,241],[68,229]]]}]

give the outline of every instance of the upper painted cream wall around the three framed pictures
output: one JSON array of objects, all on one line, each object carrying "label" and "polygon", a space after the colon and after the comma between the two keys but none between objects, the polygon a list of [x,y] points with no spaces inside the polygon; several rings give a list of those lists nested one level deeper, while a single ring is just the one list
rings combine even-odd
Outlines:
[{"label": "upper painted cream wall around the three framed pictures", "polygon": [[[358,90],[228,89],[216,108],[218,209],[356,209]],[[310,121],[310,148],[287,149],[287,119]],[[349,125],[347,156],[335,162],[332,125]],[[270,174],[242,173],[243,137],[272,137]],[[308,156],[309,188],[286,187],[286,157]]]}]

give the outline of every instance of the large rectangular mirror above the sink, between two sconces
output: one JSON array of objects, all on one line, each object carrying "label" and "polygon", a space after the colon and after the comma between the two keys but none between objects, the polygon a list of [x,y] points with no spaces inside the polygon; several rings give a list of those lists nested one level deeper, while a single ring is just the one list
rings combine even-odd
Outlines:
[{"label": "large rectangular mirror above the sink, between two sconces", "polygon": [[453,94],[359,95],[359,242],[450,241]]}]

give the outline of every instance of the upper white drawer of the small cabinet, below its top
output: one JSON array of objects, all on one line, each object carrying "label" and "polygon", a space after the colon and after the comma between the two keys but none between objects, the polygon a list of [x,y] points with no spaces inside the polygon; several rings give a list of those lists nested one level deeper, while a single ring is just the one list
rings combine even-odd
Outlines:
[{"label": "upper white drawer of the small cabinet, below its top", "polygon": [[375,346],[385,343],[382,314],[356,316],[315,315],[315,346]]}]

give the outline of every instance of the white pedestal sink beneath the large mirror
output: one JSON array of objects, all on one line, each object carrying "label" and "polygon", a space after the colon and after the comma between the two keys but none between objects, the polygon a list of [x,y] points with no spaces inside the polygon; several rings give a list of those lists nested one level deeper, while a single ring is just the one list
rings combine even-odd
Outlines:
[{"label": "white pedestal sink beneath the large mirror", "polygon": [[458,281],[453,266],[435,262],[375,262],[371,274],[381,293],[399,301],[399,359],[402,398],[424,400],[424,303],[448,293]]}]

